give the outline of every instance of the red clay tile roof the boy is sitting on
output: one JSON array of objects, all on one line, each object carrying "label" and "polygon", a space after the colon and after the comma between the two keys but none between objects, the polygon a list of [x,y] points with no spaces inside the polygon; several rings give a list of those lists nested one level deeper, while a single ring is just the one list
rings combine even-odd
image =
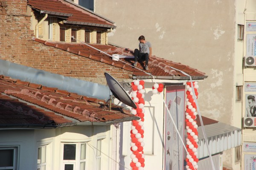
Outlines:
[{"label": "red clay tile roof the boy is sitting on", "polygon": [[[82,57],[87,57],[99,62],[103,62],[108,65],[113,65],[115,67],[119,67],[127,71],[132,71],[134,76],[140,77],[140,79],[152,78],[151,76],[148,76],[148,74],[144,73],[143,71],[140,71],[131,66],[134,63],[133,58],[121,59],[122,61],[130,64],[130,65],[127,65],[121,61],[114,61],[108,55],[103,54],[82,43],[49,42],[49,41],[44,41],[37,38],[34,38],[34,40],[37,42],[44,43],[44,45],[59,48],[64,51],[69,51],[70,53],[77,54]],[[90,44],[90,45],[110,55],[121,54],[125,56],[133,56],[133,51],[128,50],[127,48],[120,48],[113,45],[101,45],[101,44]],[[169,66],[179,69],[181,71],[184,71],[185,73],[189,74],[193,79],[207,78],[205,73],[198,71],[197,69],[191,68],[181,63],[172,62],[163,58],[159,58],[156,56],[151,56],[148,62],[149,70],[147,72],[159,79],[163,79],[163,77],[167,77],[165,79],[188,79],[186,75],[182,74],[179,71],[175,71]],[[143,62],[138,64],[137,68],[140,68],[141,70],[145,69]]]}]

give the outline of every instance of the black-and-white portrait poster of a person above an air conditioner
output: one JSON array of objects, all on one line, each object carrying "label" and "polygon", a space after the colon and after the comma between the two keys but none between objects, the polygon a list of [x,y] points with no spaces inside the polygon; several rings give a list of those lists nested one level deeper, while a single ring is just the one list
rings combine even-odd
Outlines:
[{"label": "black-and-white portrait poster of a person above an air conditioner", "polygon": [[256,99],[256,94],[245,95],[245,116],[246,117],[256,117],[255,99]]}]

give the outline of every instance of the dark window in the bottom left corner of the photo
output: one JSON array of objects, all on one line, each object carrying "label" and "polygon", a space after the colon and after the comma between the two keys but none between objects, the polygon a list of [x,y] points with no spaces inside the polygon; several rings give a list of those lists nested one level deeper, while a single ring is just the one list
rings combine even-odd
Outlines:
[{"label": "dark window in the bottom left corner of the photo", "polygon": [[0,170],[17,169],[17,147],[0,148]]}]

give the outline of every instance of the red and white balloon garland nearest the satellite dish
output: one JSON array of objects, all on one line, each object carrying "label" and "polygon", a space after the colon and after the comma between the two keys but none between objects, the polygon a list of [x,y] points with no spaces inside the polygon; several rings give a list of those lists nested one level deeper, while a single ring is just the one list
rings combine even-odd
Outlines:
[{"label": "red and white balloon garland nearest the satellite dish", "polygon": [[144,137],[144,81],[143,80],[134,80],[131,83],[132,94],[131,99],[133,99],[137,109],[132,109],[131,113],[135,116],[139,116],[139,120],[133,120],[131,122],[131,170],[144,170],[145,167],[145,156],[143,154],[143,137]]}]

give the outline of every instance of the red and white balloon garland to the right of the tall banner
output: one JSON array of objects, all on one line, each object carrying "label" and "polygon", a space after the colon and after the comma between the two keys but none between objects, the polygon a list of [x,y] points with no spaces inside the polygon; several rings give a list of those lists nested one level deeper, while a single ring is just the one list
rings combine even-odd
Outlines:
[{"label": "red and white balloon garland to the right of the tall banner", "polygon": [[[195,89],[195,96],[198,98],[198,82],[193,82],[193,86]],[[186,169],[187,170],[195,170],[198,168],[198,158],[197,158],[197,148],[198,148],[198,125],[195,121],[196,119],[196,111],[197,107],[195,104],[195,100],[193,97],[191,82],[186,83],[186,129],[187,129],[187,138],[186,138],[186,148],[188,151],[188,155],[186,156]]]}]

